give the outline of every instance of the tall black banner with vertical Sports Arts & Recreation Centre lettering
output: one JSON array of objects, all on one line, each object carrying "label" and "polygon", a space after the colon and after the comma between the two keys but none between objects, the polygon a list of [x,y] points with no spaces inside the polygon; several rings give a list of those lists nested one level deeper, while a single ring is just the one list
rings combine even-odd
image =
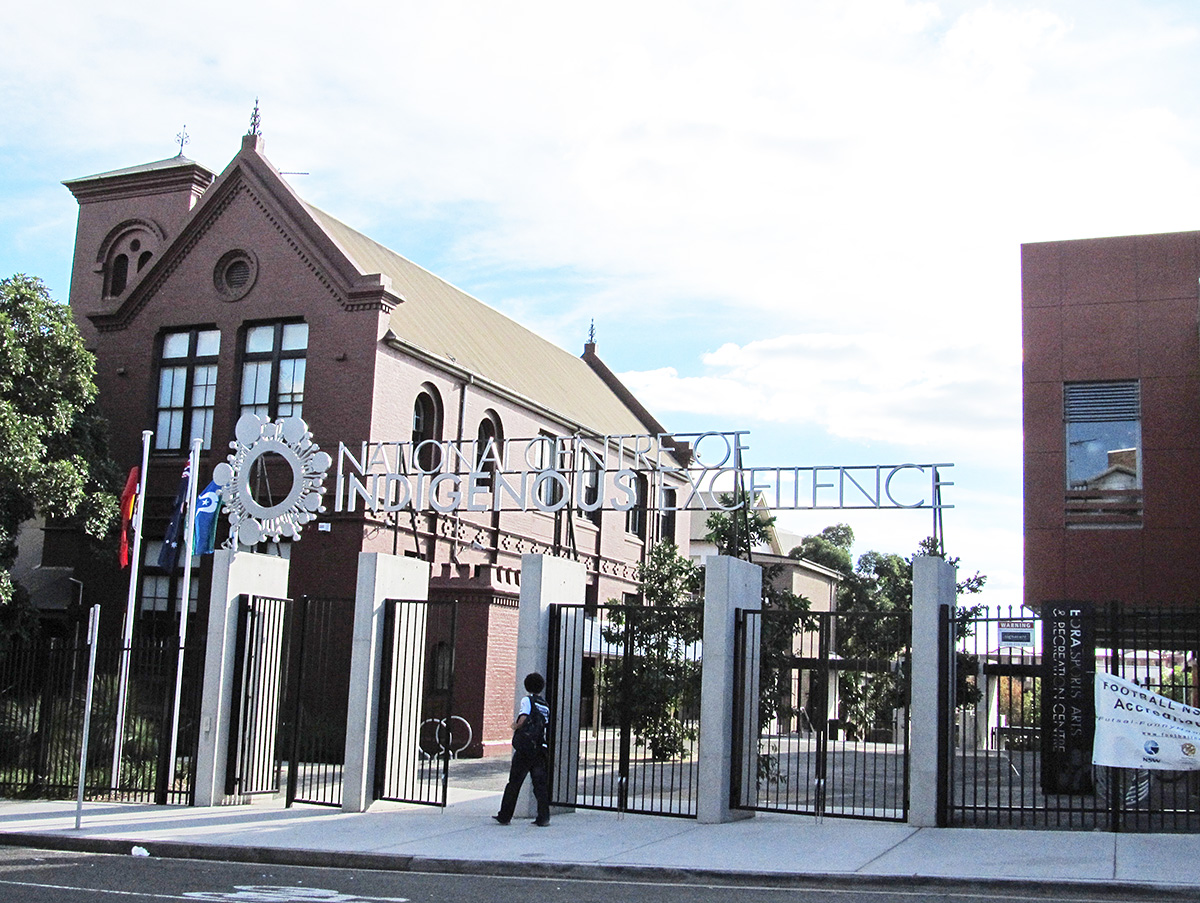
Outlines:
[{"label": "tall black banner with vertical Sports Arts & Recreation Centre lettering", "polygon": [[1042,790],[1091,794],[1096,618],[1090,603],[1042,611]]}]

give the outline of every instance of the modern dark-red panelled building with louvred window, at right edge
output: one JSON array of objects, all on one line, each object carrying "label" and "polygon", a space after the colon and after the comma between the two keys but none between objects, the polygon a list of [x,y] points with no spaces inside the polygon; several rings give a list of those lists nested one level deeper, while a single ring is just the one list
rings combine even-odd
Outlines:
[{"label": "modern dark-red panelled building with louvred window, at right edge", "polygon": [[1200,598],[1200,232],[1024,245],[1025,600]]}]

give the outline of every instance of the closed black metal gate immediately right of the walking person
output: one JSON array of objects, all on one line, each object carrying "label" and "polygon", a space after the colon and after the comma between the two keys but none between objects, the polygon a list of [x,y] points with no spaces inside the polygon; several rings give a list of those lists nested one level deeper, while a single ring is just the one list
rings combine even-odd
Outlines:
[{"label": "closed black metal gate immediately right of the walking person", "polygon": [[552,805],[696,817],[702,632],[694,605],[551,606]]}]

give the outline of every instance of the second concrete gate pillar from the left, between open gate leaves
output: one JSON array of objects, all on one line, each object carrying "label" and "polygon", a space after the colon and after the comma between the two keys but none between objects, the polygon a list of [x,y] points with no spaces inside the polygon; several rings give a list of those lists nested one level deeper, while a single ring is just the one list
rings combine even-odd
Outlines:
[{"label": "second concrete gate pillar from the left, between open gate leaves", "polygon": [[[384,602],[425,602],[430,597],[430,566],[419,558],[383,552],[359,554],[359,578],[354,593],[354,635],[350,646],[350,693],[346,714],[346,766],[342,771],[342,809],[365,812],[374,801],[379,692],[383,648],[395,636],[384,636]],[[394,659],[394,669],[404,680],[420,686],[424,675],[425,620],[407,618],[396,624],[404,642],[400,648],[419,650],[421,662]],[[406,634],[407,632],[407,634]],[[420,632],[420,636],[416,636]],[[412,635],[408,635],[412,634]],[[420,706],[412,723],[391,725],[402,734],[400,746],[412,752],[415,763],[420,731]],[[401,764],[403,765],[403,764]]]}]

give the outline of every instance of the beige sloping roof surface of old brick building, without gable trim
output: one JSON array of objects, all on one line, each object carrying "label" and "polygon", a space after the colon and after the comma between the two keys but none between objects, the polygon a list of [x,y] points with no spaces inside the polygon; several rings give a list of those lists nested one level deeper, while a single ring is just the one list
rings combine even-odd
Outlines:
[{"label": "beige sloping roof surface of old brick building, without gable trim", "polygon": [[644,408],[636,411],[622,400],[628,391],[602,364],[598,372],[324,210],[306,207],[360,274],[380,273],[391,280],[391,292],[403,299],[392,309],[390,323],[400,345],[509,389],[584,430],[607,435],[661,430]]}]

